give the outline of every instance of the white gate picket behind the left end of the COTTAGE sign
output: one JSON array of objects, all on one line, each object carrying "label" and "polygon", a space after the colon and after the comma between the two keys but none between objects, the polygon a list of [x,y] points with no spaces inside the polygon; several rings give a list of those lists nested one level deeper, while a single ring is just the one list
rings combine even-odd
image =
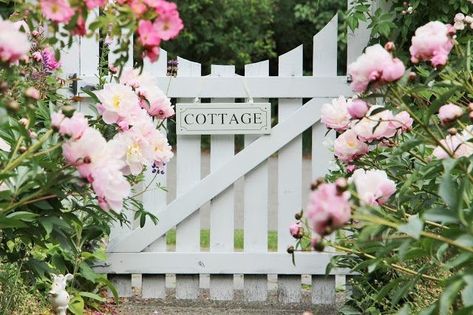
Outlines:
[{"label": "white gate picket behind the left end of the COTTAGE sign", "polygon": [[[183,58],[178,59],[178,76],[200,77],[201,65]],[[196,95],[197,96],[197,95]],[[192,99],[180,99],[180,102],[192,102]],[[177,136],[177,197],[200,182],[200,135]],[[187,217],[176,227],[176,251],[200,251],[200,214],[199,210]],[[199,275],[176,275],[176,298],[196,299],[199,296]]]}]

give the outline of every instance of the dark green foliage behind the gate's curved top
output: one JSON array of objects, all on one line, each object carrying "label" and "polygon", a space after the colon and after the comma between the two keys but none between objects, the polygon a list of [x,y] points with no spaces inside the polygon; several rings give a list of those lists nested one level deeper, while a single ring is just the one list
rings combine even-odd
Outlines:
[{"label": "dark green foliage behind the gate's curved top", "polygon": [[[311,71],[312,37],[340,13],[340,69],[345,69],[344,0],[176,1],[185,21],[179,38],[163,48],[174,56],[210,64],[244,64],[270,59],[304,44],[304,66]],[[207,69],[208,70],[208,69]]]}]

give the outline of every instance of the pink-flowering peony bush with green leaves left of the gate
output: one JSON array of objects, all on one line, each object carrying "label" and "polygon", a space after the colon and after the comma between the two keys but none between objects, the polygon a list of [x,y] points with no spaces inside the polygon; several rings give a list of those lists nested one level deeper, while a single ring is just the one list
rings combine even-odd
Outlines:
[{"label": "pink-flowering peony bush with green leaves left of the gate", "polygon": [[[114,292],[92,269],[112,223],[128,224],[123,210],[156,222],[135,187],[173,156],[161,131],[170,100],[150,76],[123,69],[131,35],[138,57],[154,61],[183,24],[164,0],[17,1],[11,19],[0,20],[0,265],[15,263],[33,290],[46,289],[51,272],[73,273],[70,310],[81,314],[103,301],[101,287]],[[74,36],[104,42],[99,85],[85,91],[95,116],[64,92],[59,57]],[[110,50],[120,56],[113,65]]]}]

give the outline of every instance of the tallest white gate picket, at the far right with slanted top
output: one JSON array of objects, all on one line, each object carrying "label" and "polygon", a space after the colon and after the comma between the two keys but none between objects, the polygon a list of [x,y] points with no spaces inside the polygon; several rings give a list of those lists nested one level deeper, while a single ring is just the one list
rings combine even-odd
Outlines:
[{"label": "tallest white gate picket, at the far right with slanted top", "polygon": [[[337,39],[338,15],[313,38],[313,75],[337,75]],[[331,99],[316,99],[320,108]],[[334,140],[335,132],[327,134],[327,128],[319,121],[312,127],[312,179],[325,176],[328,173],[329,163],[333,160],[333,152],[323,144],[327,139]],[[315,254],[316,255],[316,254]],[[335,304],[335,276],[312,275],[312,302],[314,304]]]}]

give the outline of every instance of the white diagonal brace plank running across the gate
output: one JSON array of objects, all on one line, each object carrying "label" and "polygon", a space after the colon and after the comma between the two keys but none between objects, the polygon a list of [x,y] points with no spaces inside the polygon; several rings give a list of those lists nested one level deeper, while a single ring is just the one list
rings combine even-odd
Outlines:
[{"label": "white diagonal brace plank running across the gate", "polygon": [[[307,102],[302,108],[294,112],[290,118],[275,126],[271,135],[262,136],[251,143],[245,150],[235,155],[231,161],[217,171],[208,175],[200,184],[171,202],[161,212],[166,220],[160,221],[155,227],[145,226],[123,234],[109,243],[109,252],[140,252],[169,229],[183,221],[204,205],[208,200],[218,195],[232,185],[238,178],[245,175],[270,155],[282,148],[288,142],[299,136],[302,131],[312,126],[318,119],[318,108],[312,106],[313,101]],[[179,155],[178,157],[179,158]],[[192,168],[199,167],[193,163]],[[192,172],[189,168],[189,172]],[[187,239],[188,242],[193,242]]]}]

